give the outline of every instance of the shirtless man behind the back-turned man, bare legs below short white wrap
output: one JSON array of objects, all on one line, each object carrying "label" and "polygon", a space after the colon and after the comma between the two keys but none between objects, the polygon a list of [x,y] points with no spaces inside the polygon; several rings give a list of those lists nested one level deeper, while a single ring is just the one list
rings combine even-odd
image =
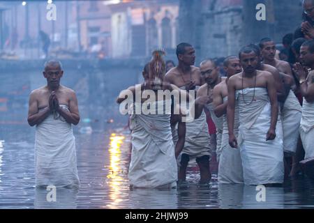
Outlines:
[{"label": "shirtless man behind the back-turned man, bare legs below short white wrap", "polygon": [[[196,68],[195,50],[188,43],[177,45],[178,66],[172,68],[165,75],[165,82],[174,84],[186,91],[195,91],[202,85],[200,69]],[[196,118],[196,117],[195,117]],[[200,183],[208,183],[211,179],[209,170],[210,140],[206,115],[201,113],[200,117],[192,122],[186,123],[186,140],[181,154],[179,167],[179,180],[186,180],[186,168],[189,160],[195,158],[200,167]]]}]

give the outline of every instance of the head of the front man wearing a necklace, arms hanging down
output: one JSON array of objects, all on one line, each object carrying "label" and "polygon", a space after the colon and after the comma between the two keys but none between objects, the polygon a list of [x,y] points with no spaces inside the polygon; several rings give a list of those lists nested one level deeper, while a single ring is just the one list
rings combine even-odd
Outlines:
[{"label": "head of the front man wearing a necklace, arms hanging down", "polygon": [[255,72],[258,65],[258,58],[253,47],[242,47],[239,51],[239,59],[244,72]]}]

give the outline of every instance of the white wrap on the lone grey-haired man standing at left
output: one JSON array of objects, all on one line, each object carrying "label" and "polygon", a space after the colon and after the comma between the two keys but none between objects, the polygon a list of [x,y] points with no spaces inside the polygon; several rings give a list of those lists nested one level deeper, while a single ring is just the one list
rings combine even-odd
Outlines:
[{"label": "white wrap on the lone grey-haired man standing at left", "polygon": [[35,163],[37,186],[80,185],[72,125],[57,113],[36,126]]}]

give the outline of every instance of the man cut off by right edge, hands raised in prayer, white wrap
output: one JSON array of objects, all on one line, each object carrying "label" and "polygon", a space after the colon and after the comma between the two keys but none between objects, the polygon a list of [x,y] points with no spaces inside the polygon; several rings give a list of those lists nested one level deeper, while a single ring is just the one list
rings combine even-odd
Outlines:
[{"label": "man cut off by right edge, hands raised in prayer, white wrap", "polygon": [[300,125],[301,141],[304,146],[304,159],[314,157],[314,40],[306,41],[300,48],[302,65],[311,68],[308,72],[299,63],[295,71],[299,75],[301,94],[304,97]]}]

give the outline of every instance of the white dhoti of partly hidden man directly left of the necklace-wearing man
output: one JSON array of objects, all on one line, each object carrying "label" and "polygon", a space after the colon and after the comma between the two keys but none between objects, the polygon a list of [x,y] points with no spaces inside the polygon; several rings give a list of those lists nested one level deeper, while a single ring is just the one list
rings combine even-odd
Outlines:
[{"label": "white dhoti of partly hidden man directly left of the necklace-wearing man", "polygon": [[[225,102],[227,97],[223,98]],[[234,135],[238,136],[239,107],[236,103],[234,109]],[[218,165],[218,183],[244,183],[243,168],[239,148],[229,145],[227,115],[223,115],[223,134],[221,140],[221,155]]]}]

